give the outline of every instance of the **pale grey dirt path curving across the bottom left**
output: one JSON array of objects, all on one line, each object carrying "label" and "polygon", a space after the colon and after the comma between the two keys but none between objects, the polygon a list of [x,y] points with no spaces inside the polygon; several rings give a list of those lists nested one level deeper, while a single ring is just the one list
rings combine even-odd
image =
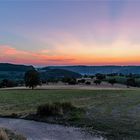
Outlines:
[{"label": "pale grey dirt path curving across the bottom left", "polygon": [[22,119],[0,118],[0,127],[23,134],[28,140],[103,140],[80,128],[47,124]]}]

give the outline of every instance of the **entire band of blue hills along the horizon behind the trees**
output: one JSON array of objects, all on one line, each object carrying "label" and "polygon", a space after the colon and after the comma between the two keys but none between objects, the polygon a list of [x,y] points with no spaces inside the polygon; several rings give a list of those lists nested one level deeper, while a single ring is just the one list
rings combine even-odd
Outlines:
[{"label": "entire band of blue hills along the horizon behind the trees", "polygon": [[[0,80],[23,80],[26,71],[34,69],[33,66],[0,63]],[[140,66],[48,66],[38,68],[43,78],[74,77],[81,75],[94,75],[96,73],[110,74],[140,74]]]}]

